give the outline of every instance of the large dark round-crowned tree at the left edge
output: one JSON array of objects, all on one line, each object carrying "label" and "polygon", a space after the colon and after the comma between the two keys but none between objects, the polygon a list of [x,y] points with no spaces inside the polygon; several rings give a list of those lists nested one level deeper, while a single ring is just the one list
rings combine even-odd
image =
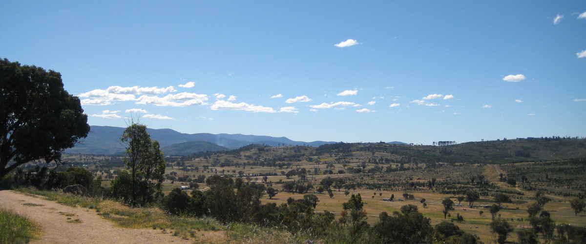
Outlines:
[{"label": "large dark round-crowned tree at the left edge", "polygon": [[60,73],[7,59],[0,59],[0,128],[0,179],[29,161],[62,163],[61,152],[90,131]]}]

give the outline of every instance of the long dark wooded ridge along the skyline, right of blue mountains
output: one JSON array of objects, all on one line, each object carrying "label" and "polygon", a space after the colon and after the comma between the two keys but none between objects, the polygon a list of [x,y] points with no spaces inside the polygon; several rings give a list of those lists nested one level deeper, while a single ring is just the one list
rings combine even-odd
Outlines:
[{"label": "long dark wooded ridge along the skyline, right of blue mountains", "polygon": [[[586,158],[584,139],[500,140],[468,142],[451,146],[409,146],[386,143],[333,143],[319,147],[249,145],[219,153],[236,163],[253,160],[287,163],[313,161],[318,157],[336,161],[384,163],[513,163]],[[189,159],[210,156],[196,154]],[[224,160],[224,159],[222,159]]]}]

